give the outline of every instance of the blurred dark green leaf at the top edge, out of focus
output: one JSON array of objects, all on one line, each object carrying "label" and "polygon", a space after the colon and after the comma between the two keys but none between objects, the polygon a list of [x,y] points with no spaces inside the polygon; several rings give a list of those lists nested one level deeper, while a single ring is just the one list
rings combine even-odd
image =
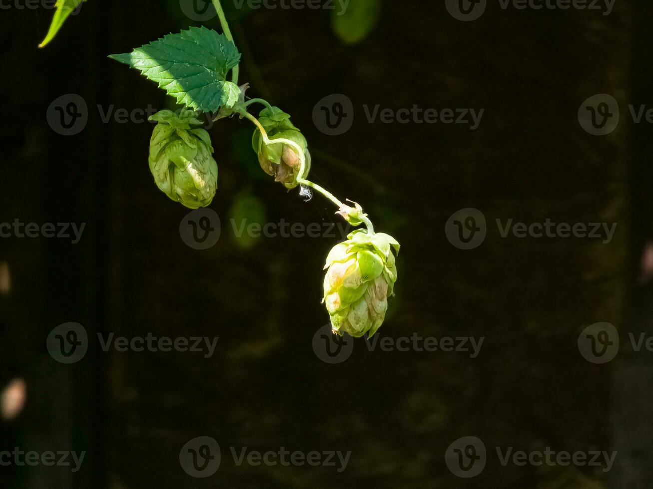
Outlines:
[{"label": "blurred dark green leaf at the top edge, out of focus", "polygon": [[344,12],[334,10],[331,25],[345,44],[356,44],[368,37],[379,22],[381,0],[350,0]]}]

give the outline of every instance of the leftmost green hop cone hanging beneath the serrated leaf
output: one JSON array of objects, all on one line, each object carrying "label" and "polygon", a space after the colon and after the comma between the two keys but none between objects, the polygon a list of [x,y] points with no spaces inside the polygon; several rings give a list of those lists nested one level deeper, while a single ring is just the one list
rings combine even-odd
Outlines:
[{"label": "leftmost green hop cone hanging beneath the serrated leaf", "polygon": [[217,163],[211,138],[195,113],[179,115],[162,110],[150,116],[157,121],[150,140],[150,171],[159,189],[190,209],[206,207],[215,196]]}]

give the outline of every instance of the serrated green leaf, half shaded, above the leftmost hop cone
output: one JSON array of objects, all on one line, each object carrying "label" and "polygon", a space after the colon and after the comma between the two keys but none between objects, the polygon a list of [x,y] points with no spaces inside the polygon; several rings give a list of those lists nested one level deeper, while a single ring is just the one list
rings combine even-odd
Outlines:
[{"label": "serrated green leaf, half shaded, above the leftmost hop cone", "polygon": [[179,104],[215,112],[234,96],[233,87],[225,89],[225,85],[227,73],[238,65],[240,53],[224,34],[202,26],[109,57],[140,70]]}]

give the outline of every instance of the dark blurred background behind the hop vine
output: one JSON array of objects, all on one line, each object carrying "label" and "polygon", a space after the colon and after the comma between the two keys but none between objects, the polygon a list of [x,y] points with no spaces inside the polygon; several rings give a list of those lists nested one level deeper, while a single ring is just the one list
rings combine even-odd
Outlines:
[{"label": "dark blurred background behind the hop vine", "polygon": [[[338,222],[332,205],[319,194],[304,203],[296,190],[285,192],[258,167],[251,125],[218,121],[210,128],[220,172],[210,207],[223,229],[215,246],[195,250],[180,238],[188,209],[153,185],[153,126],[103,121],[110,108],[175,107],[155,83],[107,55],[202,23],[176,0],[89,0],[39,50],[52,10],[5,3],[0,222],[86,228],[76,244],[0,239],[7,284],[0,389],[10,390],[12,401],[5,390],[3,402],[14,409],[0,422],[0,451],[86,451],[86,458],[76,473],[0,467],[2,487],[650,486],[653,353],[629,351],[627,336],[652,329],[653,128],[633,124],[627,109],[653,101],[650,3],[617,0],[603,15],[490,2],[481,18],[460,22],[444,1],[383,0],[377,17],[368,10],[353,18],[370,27],[352,39],[339,35],[325,8],[224,2],[247,95],[290,113],[309,141],[313,180],[362,203],[377,230],[402,244],[396,297],[379,335],[485,338],[476,358],[368,351],[356,340],[351,358],[337,364],[322,361],[311,342],[328,323],[322,267],[340,237],[243,242],[228,224],[252,207],[259,222]],[[203,24],[220,30],[215,17]],[[355,117],[350,130],[328,136],[313,108],[338,93],[351,99]],[[607,136],[588,134],[577,118],[597,93],[622,108]],[[88,123],[72,136],[46,120],[50,104],[67,94],[88,104]],[[364,104],[485,112],[476,130],[372,124]],[[239,207],[244,198],[256,205]],[[488,220],[485,242],[473,250],[445,236],[449,216],[466,207]],[[502,238],[495,218],[618,226],[608,244]],[[607,364],[586,361],[577,346],[581,331],[600,321],[622,336]],[[89,348],[78,363],[61,364],[46,338],[69,322],[88,331]],[[219,341],[209,359],[105,353],[96,333]],[[198,436],[222,447],[221,467],[206,479],[179,462],[180,449]],[[464,436],[488,449],[485,470],[470,479],[445,464],[447,447]],[[228,447],[351,451],[351,460],[342,472],[238,467]],[[502,466],[494,447],[617,455],[609,472]]]}]

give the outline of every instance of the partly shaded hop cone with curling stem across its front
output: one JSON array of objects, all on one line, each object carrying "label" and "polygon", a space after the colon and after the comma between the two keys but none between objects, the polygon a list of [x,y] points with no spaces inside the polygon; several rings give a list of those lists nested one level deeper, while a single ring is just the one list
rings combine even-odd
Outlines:
[{"label": "partly shaded hop cone with curling stem across its front", "polygon": [[[273,107],[272,110],[266,108],[259,114],[259,123],[265,128],[270,140],[291,140],[302,149],[306,158],[306,168],[302,176],[306,177],[311,168],[311,154],[308,152],[306,138],[291,123],[290,115],[278,107]],[[295,188],[298,185],[301,160],[295,147],[286,143],[266,145],[258,129],[254,131],[251,142],[265,173],[272,175],[274,181],[282,183],[286,188]]]}]

